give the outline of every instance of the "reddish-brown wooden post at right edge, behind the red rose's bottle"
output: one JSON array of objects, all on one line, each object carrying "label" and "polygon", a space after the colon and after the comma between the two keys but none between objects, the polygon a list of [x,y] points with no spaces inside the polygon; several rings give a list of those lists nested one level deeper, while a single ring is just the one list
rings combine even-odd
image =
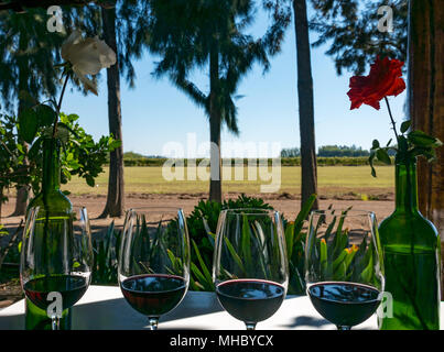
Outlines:
[{"label": "reddish-brown wooden post at right edge, behind the red rose's bottle", "polygon": [[[442,0],[410,0],[408,97],[413,128],[444,141],[444,7]],[[419,204],[441,234],[444,255],[444,147],[437,161],[418,162]],[[441,294],[444,298],[444,270]]]}]

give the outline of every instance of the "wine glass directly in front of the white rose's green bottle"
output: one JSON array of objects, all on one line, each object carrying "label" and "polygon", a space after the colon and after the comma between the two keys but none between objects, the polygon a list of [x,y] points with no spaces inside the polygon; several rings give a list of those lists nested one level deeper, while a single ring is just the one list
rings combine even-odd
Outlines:
[{"label": "wine glass directly in front of the white rose's green bottle", "polygon": [[73,307],[90,283],[93,246],[86,208],[53,216],[29,210],[23,232],[20,280],[25,296],[59,330],[65,309]]}]

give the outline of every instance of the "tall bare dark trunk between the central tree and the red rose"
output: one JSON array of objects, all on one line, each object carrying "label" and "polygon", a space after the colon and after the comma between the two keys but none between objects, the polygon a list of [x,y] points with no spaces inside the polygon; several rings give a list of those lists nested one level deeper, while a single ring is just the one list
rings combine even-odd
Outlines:
[{"label": "tall bare dark trunk between the central tree and the red rose", "polygon": [[[313,78],[305,0],[293,0],[297,51],[297,98],[301,133],[301,206],[317,194],[317,163],[314,132]],[[312,209],[317,209],[317,199]]]}]

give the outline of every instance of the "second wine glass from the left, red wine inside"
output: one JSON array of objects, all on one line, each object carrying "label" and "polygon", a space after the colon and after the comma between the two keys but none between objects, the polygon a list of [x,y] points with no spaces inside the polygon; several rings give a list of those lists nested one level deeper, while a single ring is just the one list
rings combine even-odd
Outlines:
[{"label": "second wine glass from the left, red wine inside", "polygon": [[128,304],[151,330],[174,309],[189,284],[189,240],[182,209],[127,211],[119,253],[119,284]]}]

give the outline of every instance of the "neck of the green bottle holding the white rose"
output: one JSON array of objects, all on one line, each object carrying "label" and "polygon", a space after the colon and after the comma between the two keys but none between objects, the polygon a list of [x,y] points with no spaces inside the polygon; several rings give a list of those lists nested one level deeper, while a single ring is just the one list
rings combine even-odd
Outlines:
[{"label": "neck of the green bottle holding the white rose", "polygon": [[42,193],[48,194],[61,188],[59,143],[55,139],[43,141],[43,178]]}]

